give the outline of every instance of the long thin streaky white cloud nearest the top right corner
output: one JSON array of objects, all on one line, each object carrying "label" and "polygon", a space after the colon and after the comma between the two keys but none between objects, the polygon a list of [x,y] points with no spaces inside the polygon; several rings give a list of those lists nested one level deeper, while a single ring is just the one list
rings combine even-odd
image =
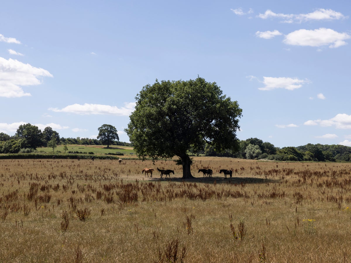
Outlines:
[{"label": "long thin streaky white cloud nearest the top right corner", "polygon": [[268,9],[264,14],[260,13],[257,17],[262,19],[279,18],[282,19],[282,22],[284,23],[292,23],[294,21],[300,23],[311,20],[339,20],[347,18],[340,12],[323,8],[316,9],[316,11],[308,14],[277,14]]}]

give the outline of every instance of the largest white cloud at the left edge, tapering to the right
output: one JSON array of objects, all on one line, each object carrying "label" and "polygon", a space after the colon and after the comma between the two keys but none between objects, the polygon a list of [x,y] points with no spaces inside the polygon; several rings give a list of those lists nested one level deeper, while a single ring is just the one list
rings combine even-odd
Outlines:
[{"label": "largest white cloud at the left edge, tapering to the right", "polygon": [[47,70],[24,64],[16,59],[0,57],[0,97],[31,96],[20,86],[39,85],[38,77],[53,77]]}]

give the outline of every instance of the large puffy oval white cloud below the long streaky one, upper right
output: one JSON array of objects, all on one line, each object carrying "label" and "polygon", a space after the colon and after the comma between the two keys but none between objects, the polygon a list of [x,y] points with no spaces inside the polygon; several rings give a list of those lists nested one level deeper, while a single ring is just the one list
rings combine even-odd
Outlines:
[{"label": "large puffy oval white cloud below the long streaky one, upper right", "polygon": [[346,45],[347,43],[344,40],[350,38],[350,35],[346,33],[339,33],[328,28],[299,29],[287,34],[283,42],[294,46],[320,47],[329,45],[330,48],[336,48]]}]

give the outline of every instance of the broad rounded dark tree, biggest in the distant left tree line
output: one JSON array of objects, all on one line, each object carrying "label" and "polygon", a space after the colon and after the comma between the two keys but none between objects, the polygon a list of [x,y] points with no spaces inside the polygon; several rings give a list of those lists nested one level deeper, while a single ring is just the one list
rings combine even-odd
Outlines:
[{"label": "broad rounded dark tree, biggest in the distant left tree line", "polygon": [[15,135],[22,139],[21,148],[36,149],[44,145],[41,130],[30,123],[20,125]]}]

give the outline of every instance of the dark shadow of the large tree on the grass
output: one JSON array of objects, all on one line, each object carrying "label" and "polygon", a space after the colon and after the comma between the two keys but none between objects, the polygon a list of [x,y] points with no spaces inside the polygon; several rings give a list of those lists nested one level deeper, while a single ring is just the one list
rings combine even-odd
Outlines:
[{"label": "dark shadow of the large tree on the grass", "polygon": [[224,178],[224,176],[212,176],[212,177],[195,177],[195,178],[189,178],[189,179],[183,179],[182,177],[171,177],[165,179],[163,177],[162,179],[160,177],[151,177],[148,178],[149,180],[152,180],[154,182],[185,182],[185,183],[204,183],[204,184],[213,184],[216,182],[217,184],[264,184],[264,183],[279,183],[281,180],[280,179],[266,179],[266,178],[255,178],[255,177],[232,177],[227,176],[227,178]]}]

